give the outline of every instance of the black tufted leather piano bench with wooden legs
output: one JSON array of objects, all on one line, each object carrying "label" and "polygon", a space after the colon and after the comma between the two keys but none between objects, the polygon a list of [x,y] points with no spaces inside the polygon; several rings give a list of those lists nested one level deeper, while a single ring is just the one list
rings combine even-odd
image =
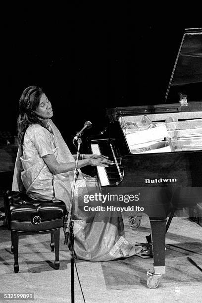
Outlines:
[{"label": "black tufted leather piano bench with wooden legs", "polygon": [[59,233],[67,213],[61,202],[33,200],[25,192],[5,191],[3,193],[5,216],[11,232],[11,252],[14,253],[14,272],[19,271],[19,235],[51,235],[50,248],[55,248],[55,269],[59,269]]}]

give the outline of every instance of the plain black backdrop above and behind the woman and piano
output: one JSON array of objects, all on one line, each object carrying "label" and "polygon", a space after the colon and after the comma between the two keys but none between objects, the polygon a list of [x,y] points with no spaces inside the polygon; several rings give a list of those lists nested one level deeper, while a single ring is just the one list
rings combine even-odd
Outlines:
[{"label": "plain black backdrop above and behind the woman and piano", "polygon": [[88,134],[104,128],[106,107],[164,102],[184,29],[201,27],[201,18],[175,7],[95,2],[49,9],[33,2],[6,15],[0,130],[16,134],[19,98],[30,85],[52,102],[72,152],[85,121],[93,123]]}]

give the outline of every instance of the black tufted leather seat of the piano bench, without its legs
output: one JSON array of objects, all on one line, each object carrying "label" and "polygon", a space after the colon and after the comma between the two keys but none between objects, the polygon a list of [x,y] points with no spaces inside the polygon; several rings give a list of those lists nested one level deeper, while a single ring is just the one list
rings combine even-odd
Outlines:
[{"label": "black tufted leather seat of the piano bench, without its legs", "polygon": [[4,193],[8,229],[36,232],[63,226],[66,206],[63,202],[32,200],[24,192]]}]

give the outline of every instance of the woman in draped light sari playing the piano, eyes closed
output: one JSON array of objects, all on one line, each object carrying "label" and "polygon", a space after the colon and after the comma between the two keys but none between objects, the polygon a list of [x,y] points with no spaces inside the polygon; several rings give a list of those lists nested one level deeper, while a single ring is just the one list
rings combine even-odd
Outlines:
[{"label": "woman in draped light sari playing the piano, eyes closed", "polygon": [[[64,202],[69,210],[75,158],[52,120],[51,103],[41,88],[30,86],[20,98],[17,121],[19,149],[13,175],[13,191],[26,190],[32,199]],[[78,161],[79,175],[74,195],[74,251],[78,259],[109,261],[140,253],[124,238],[120,213],[79,211],[84,195],[99,191],[97,179],[80,168],[113,165],[104,155],[83,154]]]}]

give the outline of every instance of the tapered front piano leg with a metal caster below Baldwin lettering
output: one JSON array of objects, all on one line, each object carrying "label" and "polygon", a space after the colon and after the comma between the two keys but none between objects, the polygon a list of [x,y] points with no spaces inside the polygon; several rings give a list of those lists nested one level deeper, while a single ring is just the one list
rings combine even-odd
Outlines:
[{"label": "tapered front piano leg with a metal caster below Baldwin lettering", "polygon": [[158,279],[165,273],[165,228],[166,218],[150,217],[153,250],[153,272],[148,271],[147,285],[158,287]]}]

